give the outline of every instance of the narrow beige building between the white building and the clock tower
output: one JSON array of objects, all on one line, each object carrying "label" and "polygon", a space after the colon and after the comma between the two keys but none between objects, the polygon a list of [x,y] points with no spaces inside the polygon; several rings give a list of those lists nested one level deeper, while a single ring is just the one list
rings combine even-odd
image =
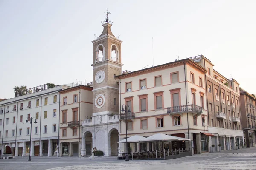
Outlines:
[{"label": "narrow beige building between the white building and the clock tower", "polygon": [[79,85],[60,91],[60,156],[81,156],[81,125],[92,113],[92,90]]}]

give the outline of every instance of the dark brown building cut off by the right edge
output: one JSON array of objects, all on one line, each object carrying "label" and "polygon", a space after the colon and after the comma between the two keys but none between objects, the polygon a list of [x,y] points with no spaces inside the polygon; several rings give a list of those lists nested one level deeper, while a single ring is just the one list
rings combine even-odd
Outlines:
[{"label": "dark brown building cut off by the right edge", "polygon": [[256,98],[247,93],[247,91],[240,91],[240,103],[241,121],[246,147],[256,147]]}]

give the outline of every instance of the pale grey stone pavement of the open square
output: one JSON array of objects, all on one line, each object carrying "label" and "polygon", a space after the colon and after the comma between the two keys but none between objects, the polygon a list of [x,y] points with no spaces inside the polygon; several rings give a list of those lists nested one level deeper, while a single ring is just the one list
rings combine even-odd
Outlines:
[{"label": "pale grey stone pavement of the open square", "polygon": [[203,153],[172,160],[118,161],[116,157],[0,159],[0,170],[256,170],[256,148],[244,153]]}]

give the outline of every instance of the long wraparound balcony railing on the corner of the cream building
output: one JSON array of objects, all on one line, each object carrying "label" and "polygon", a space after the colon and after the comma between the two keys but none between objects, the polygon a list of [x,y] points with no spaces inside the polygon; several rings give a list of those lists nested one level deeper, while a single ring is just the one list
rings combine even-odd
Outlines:
[{"label": "long wraparound balcony railing on the corner of the cream building", "polygon": [[167,113],[196,112],[203,113],[203,108],[197,105],[182,105],[167,108]]}]

